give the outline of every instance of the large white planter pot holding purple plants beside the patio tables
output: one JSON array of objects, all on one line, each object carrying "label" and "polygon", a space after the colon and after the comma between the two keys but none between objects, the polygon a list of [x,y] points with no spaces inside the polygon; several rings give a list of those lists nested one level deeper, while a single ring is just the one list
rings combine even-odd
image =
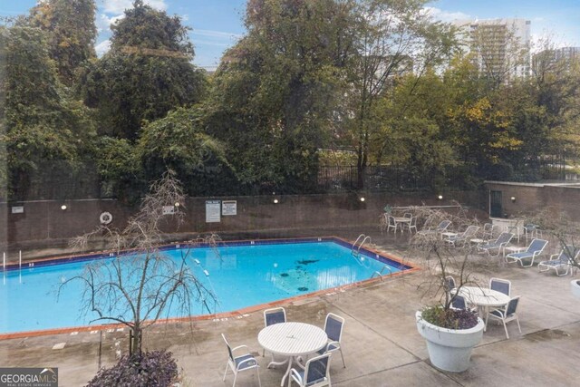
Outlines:
[{"label": "large white planter pot holding purple plants beside the patio tables", "polygon": [[431,363],[443,371],[463,372],[469,368],[471,350],[483,337],[483,320],[469,329],[446,329],[430,324],[415,314],[417,330],[427,341]]}]

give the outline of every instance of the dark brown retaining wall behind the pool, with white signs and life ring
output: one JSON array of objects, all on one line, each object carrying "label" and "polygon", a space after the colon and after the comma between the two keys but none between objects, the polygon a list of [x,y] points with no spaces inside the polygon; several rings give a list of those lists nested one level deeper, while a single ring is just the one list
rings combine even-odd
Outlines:
[{"label": "dark brown retaining wall behind the pool, with white signs and life ring", "polygon": [[[189,198],[185,203],[185,224],[177,230],[181,234],[215,231],[240,234],[267,230],[299,230],[337,227],[369,227],[379,224],[382,208],[425,205],[449,205],[452,200],[485,209],[486,195],[481,192],[444,193],[439,200],[432,195],[410,193],[326,194],[302,196],[260,196],[229,198]],[[361,196],[365,198],[362,202]],[[274,199],[278,203],[274,203]],[[206,223],[206,200],[237,200],[237,215],[222,216],[219,223]],[[66,209],[61,206],[66,205]],[[24,207],[23,213],[12,208]],[[111,227],[124,227],[136,208],[128,208],[111,199],[62,201],[32,201],[4,204],[0,207],[0,242],[10,250],[66,246],[72,237],[92,231],[100,225],[102,212],[111,213]],[[484,213],[485,214],[485,213]],[[168,232],[176,232],[171,217],[163,225]]]}]

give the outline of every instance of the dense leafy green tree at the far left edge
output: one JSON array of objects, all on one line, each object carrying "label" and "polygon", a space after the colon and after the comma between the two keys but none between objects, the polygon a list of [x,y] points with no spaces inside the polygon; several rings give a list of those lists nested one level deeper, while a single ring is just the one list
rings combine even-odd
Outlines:
[{"label": "dense leafy green tree at the far left edge", "polygon": [[66,97],[41,30],[0,27],[0,58],[7,179],[23,198],[34,171],[53,162],[79,165],[92,150],[95,132],[87,109]]}]

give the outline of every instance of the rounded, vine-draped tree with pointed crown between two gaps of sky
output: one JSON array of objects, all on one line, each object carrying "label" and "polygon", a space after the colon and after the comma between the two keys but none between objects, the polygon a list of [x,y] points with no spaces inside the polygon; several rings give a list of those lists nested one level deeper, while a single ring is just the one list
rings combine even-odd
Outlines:
[{"label": "rounded, vine-draped tree with pointed crown between two gaps of sky", "polygon": [[98,111],[99,131],[128,140],[139,137],[143,121],[200,101],[206,88],[179,16],[133,5],[112,25],[111,50],[82,74],[80,89]]}]

